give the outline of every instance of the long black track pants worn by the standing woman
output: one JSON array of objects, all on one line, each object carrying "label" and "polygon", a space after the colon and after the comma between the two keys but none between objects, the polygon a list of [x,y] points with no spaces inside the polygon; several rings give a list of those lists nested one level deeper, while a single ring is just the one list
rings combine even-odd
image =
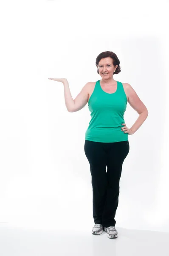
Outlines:
[{"label": "long black track pants worn by the standing woman", "polygon": [[94,223],[115,227],[119,182],[122,164],[130,150],[129,141],[102,143],[85,140],[84,149],[90,163]]}]

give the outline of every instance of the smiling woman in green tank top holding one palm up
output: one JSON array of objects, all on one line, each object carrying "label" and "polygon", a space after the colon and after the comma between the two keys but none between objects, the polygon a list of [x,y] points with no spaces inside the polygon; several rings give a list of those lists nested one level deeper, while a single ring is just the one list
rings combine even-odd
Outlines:
[{"label": "smiling woman in green tank top holding one palm up", "polygon": [[[104,229],[108,238],[117,238],[115,212],[122,164],[130,149],[128,135],[138,130],[148,111],[130,84],[113,78],[114,74],[121,72],[115,53],[101,52],[96,58],[96,67],[101,80],[85,84],[74,100],[67,79],[49,79],[63,83],[65,105],[69,112],[79,111],[88,102],[91,120],[85,133],[84,150],[90,163],[93,188],[95,225],[92,234],[100,235]],[[127,102],[139,114],[131,128],[127,128],[124,121]]]}]

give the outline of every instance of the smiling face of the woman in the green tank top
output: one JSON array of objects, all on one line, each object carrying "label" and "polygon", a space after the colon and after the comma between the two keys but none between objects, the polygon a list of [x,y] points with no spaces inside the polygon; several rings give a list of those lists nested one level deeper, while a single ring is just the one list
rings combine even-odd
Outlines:
[{"label": "smiling face of the woman in the green tank top", "polygon": [[99,66],[98,66],[99,74],[101,78],[110,79],[110,77],[113,77],[113,73],[115,72],[115,69],[117,67],[118,65],[114,67],[112,58],[110,57],[102,58],[99,61]]}]

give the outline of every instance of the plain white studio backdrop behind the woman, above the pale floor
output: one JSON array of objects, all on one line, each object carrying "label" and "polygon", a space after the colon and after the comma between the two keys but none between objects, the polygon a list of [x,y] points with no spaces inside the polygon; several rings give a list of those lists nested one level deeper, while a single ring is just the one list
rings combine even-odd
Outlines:
[{"label": "plain white studio backdrop behind the woman, above the pale floor", "polygon": [[[93,226],[85,156],[88,104],[73,99],[97,81],[96,57],[113,51],[149,116],[129,135],[116,226],[169,232],[168,9],[159,1],[7,1],[1,4],[0,226],[79,230]],[[127,127],[138,117],[129,104]]]}]

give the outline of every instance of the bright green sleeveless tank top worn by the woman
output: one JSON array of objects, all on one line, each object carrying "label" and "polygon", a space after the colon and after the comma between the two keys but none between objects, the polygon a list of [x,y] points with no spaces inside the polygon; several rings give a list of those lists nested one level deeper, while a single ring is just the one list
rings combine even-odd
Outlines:
[{"label": "bright green sleeveless tank top worn by the woman", "polygon": [[121,82],[117,81],[115,93],[106,93],[101,88],[100,80],[96,81],[88,102],[91,120],[85,140],[109,143],[128,140],[128,133],[121,131],[126,107],[127,96]]}]

